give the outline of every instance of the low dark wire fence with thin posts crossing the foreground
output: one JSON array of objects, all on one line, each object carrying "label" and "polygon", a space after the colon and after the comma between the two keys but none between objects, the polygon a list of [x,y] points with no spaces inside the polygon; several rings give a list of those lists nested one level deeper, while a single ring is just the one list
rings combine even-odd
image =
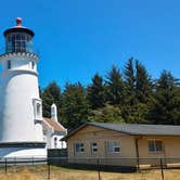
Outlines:
[{"label": "low dark wire fence with thin posts crossing the foreground", "polygon": [[[12,175],[22,171],[24,168],[28,169],[33,173],[40,175],[44,179],[51,179],[55,176],[63,176],[65,180],[65,172],[73,173],[77,169],[79,173],[88,171],[95,173],[97,179],[102,180],[105,172],[116,172],[117,176],[131,176],[138,175],[139,179],[149,179],[147,175],[152,170],[153,176],[158,176],[158,179],[165,180],[168,173],[176,172],[180,176],[180,157],[173,158],[67,158],[67,157],[11,157],[0,158],[0,175]],[[64,170],[68,169],[68,170]],[[176,171],[175,171],[176,170]],[[124,172],[120,173],[120,172]],[[143,176],[143,178],[142,178]],[[156,177],[154,177],[155,179]],[[76,179],[76,178],[75,178]],[[88,178],[86,178],[89,180]],[[103,180],[106,178],[103,177]],[[120,178],[119,178],[120,179]],[[123,179],[123,178],[121,178]],[[134,177],[133,177],[134,179]],[[150,179],[153,179],[152,177]],[[170,179],[169,177],[167,179]],[[175,178],[171,178],[175,179]]]}]

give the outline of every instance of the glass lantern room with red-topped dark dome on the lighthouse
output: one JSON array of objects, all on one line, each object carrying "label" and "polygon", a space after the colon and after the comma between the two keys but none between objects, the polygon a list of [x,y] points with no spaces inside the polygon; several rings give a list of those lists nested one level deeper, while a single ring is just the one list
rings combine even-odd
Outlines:
[{"label": "glass lantern room with red-topped dark dome on the lighthouse", "polygon": [[16,26],[7,29],[5,37],[5,53],[12,52],[28,52],[33,53],[33,37],[34,31],[22,26],[22,18],[16,18]]}]

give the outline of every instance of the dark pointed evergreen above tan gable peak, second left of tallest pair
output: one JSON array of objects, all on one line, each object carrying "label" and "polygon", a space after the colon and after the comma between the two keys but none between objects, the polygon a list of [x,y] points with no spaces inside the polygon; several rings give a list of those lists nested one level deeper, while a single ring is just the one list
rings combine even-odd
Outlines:
[{"label": "dark pointed evergreen above tan gable peak, second left of tallest pair", "polygon": [[100,108],[104,106],[105,103],[105,92],[103,78],[95,74],[92,78],[92,85],[87,88],[87,99],[91,108]]}]

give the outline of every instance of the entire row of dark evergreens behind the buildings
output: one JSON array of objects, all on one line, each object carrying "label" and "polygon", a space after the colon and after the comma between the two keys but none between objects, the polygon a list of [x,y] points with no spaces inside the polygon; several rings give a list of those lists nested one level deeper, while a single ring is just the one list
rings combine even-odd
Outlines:
[{"label": "entire row of dark evergreens behind the buildings", "polygon": [[113,65],[102,77],[97,73],[87,87],[55,81],[40,90],[43,116],[57,105],[59,120],[68,130],[87,121],[180,125],[180,79],[163,70],[153,79],[145,66],[133,57],[123,70]]}]

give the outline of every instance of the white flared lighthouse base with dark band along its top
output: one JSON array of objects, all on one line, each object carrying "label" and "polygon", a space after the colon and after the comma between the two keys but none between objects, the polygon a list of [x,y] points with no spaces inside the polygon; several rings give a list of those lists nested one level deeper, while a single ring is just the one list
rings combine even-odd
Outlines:
[{"label": "white flared lighthouse base with dark band along its top", "polygon": [[44,142],[3,142],[0,143],[0,157],[47,157]]}]

